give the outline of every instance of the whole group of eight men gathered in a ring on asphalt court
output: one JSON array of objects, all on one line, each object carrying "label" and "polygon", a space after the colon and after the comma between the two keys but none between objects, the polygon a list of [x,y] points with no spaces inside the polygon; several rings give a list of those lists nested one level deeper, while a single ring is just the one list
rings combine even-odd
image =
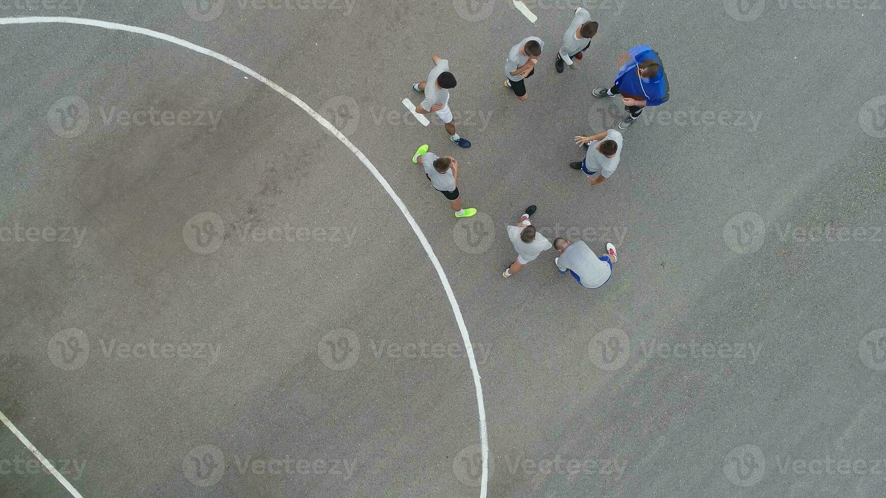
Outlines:
[{"label": "whole group of eight men gathered in a ring on asphalt court", "polygon": [[[584,52],[590,48],[591,40],[599,27],[590,18],[586,9],[576,9],[556,54],[554,65],[557,73],[563,73],[567,65],[575,69],[578,61],[584,58]],[[519,101],[528,98],[525,80],[535,73],[542,50],[544,42],[537,36],[527,36],[509,50],[505,63],[505,86],[514,92]],[[449,62],[446,59],[434,54],[432,60],[434,66],[427,80],[412,86],[417,92],[424,93],[424,100],[416,105],[416,112],[436,113],[445,124],[450,141],[462,148],[468,148],[470,142],[455,132],[455,120],[449,109],[449,90],[455,88],[455,76],[449,72]],[[627,116],[618,123],[618,129],[625,130],[640,118],[644,108],[667,102],[669,88],[661,58],[648,45],[637,45],[626,51],[618,58],[618,65],[620,69],[612,86],[594,88],[591,95],[599,98],[621,97]],[[570,166],[584,172],[592,187],[610,178],[618,167],[624,142],[618,129],[575,137],[575,142],[585,148],[585,157],[581,161],[572,162]],[[469,218],[477,214],[475,208],[462,207],[462,197],[458,190],[458,161],[455,157],[439,157],[425,144],[416,150],[412,162],[424,168],[433,188],[449,200],[450,207],[455,211],[455,218]],[[517,251],[517,259],[501,273],[502,277],[509,278],[522,270],[525,264],[539,257],[543,251],[553,247],[560,253],[554,263],[561,274],[569,272],[581,286],[587,288],[601,287],[609,281],[613,264],[618,259],[613,244],[607,243],[606,253],[600,257],[584,241],[568,241],[558,237],[552,244],[532,225],[531,217],[536,210],[534,205],[527,207],[517,224],[508,226],[508,238]]]}]

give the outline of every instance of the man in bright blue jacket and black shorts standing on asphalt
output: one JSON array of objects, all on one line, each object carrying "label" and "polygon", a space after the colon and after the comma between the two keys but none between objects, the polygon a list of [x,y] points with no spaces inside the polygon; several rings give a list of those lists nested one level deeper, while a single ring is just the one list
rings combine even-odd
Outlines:
[{"label": "man in bright blue jacket and black shorts standing on asphalt", "polygon": [[618,64],[621,69],[612,88],[594,88],[591,94],[596,97],[621,94],[628,116],[618,123],[618,128],[624,130],[640,118],[644,107],[661,105],[671,96],[661,57],[649,45],[637,45],[626,51],[618,57]]}]

